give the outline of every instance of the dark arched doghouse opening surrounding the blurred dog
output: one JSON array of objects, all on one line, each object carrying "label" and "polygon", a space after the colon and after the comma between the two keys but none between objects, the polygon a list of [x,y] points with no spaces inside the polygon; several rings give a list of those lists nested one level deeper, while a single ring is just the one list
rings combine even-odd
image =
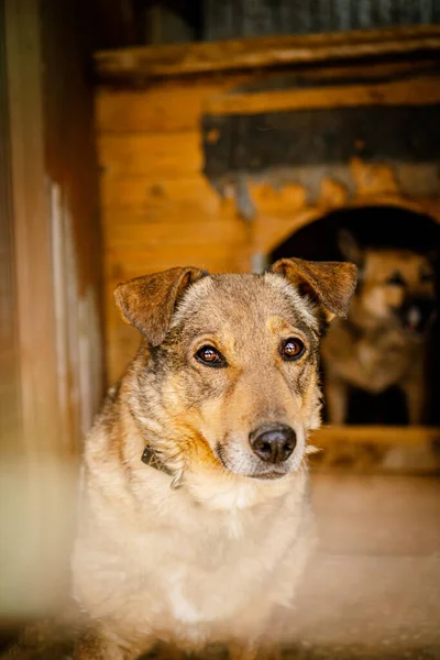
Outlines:
[{"label": "dark arched doghouse opening surrounding the blurred dog", "polygon": [[[428,216],[396,207],[371,206],[333,211],[302,227],[277,245],[268,261],[273,263],[287,256],[314,261],[343,260],[338,246],[341,229],[349,230],[365,246],[406,248],[426,253],[435,253],[440,249],[440,226]],[[440,308],[439,282],[437,261],[437,312]],[[437,314],[431,332],[427,376],[428,422],[436,426],[440,424],[440,410],[436,403],[440,394],[439,316]],[[348,424],[405,425],[407,419],[405,399],[398,388],[393,387],[378,396],[354,389],[351,393]]]}]

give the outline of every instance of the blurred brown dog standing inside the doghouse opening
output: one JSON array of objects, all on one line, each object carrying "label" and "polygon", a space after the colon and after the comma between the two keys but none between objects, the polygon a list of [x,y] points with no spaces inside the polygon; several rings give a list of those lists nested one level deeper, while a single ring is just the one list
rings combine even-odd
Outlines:
[{"label": "blurred brown dog standing inside the doghouse opening", "polygon": [[340,248],[358,264],[360,282],[348,318],[336,320],[322,341],[329,421],[345,421],[350,386],[380,394],[398,385],[410,424],[421,424],[432,264],[408,250],[362,250],[348,232],[341,232]]}]

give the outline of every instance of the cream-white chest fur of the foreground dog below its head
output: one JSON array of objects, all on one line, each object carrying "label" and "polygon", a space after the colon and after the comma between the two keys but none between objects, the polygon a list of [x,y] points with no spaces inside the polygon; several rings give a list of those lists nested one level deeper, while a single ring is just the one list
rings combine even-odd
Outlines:
[{"label": "cream-white chest fur of the foreground dog below its head", "polygon": [[256,636],[274,606],[290,604],[308,556],[306,471],[279,496],[232,510],[209,510],[145,473],[136,506],[121,492],[111,514],[95,483],[74,562],[78,601],[122,638],[177,637],[190,648]]}]

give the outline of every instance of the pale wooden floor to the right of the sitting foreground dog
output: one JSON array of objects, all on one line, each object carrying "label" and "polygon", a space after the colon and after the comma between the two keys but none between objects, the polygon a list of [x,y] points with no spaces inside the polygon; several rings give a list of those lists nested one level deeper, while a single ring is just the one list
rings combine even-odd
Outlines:
[{"label": "pale wooden floor to the right of the sitting foreground dog", "polygon": [[440,480],[317,475],[320,542],[293,613],[307,660],[440,658]]}]

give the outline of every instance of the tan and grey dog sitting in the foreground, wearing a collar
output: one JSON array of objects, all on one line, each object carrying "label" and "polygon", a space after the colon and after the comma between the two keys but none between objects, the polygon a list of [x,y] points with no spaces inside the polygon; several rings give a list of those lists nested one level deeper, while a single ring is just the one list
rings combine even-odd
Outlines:
[{"label": "tan and grey dog sitting in the foreground, wearing a collar", "polygon": [[77,659],[157,640],[224,642],[237,659],[274,649],[312,538],[319,338],[354,287],[352,264],[293,258],[117,288],[144,339],[86,442],[74,584],[91,629]]}]

